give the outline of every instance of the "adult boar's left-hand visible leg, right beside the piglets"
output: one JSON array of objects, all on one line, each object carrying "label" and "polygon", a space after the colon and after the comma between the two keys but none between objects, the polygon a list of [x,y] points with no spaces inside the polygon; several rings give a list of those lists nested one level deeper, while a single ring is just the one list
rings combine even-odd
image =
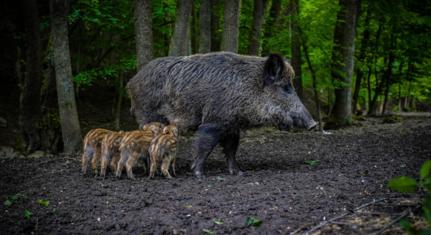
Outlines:
[{"label": "adult boar's left-hand visible leg, right beside the piglets", "polygon": [[193,143],[194,162],[191,167],[196,177],[202,178],[204,176],[204,162],[219,142],[221,133],[222,128],[217,124],[202,124],[199,126]]}]

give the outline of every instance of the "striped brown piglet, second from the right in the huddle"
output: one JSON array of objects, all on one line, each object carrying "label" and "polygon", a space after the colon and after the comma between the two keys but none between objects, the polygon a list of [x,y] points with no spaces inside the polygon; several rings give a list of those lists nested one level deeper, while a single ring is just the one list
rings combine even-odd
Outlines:
[{"label": "striped brown piglet, second from the right in the huddle", "polygon": [[[121,177],[124,166],[126,166],[127,176],[135,179],[133,167],[135,167],[140,157],[147,157],[148,148],[151,141],[161,133],[163,124],[152,122],[143,125],[142,130],[130,131],[123,137],[120,144],[120,160],[117,164],[116,176]],[[148,165],[148,163],[147,163]]]}]

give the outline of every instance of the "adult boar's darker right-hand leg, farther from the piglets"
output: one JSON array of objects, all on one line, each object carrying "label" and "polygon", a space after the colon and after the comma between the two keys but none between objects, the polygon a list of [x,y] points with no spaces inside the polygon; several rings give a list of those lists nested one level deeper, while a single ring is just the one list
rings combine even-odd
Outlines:
[{"label": "adult boar's darker right-hand leg, farther from the piglets", "polygon": [[220,140],[220,145],[223,147],[223,153],[226,156],[227,167],[231,175],[243,175],[243,172],[236,162],[236,151],[239,145],[239,130],[230,131],[225,133]]}]

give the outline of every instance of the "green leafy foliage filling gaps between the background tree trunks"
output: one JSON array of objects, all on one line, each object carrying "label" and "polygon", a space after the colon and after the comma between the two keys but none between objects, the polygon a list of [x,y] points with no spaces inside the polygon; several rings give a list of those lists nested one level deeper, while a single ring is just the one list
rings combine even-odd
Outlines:
[{"label": "green leafy foliage filling gaps between the background tree trunks", "polygon": [[[267,1],[262,28],[263,56],[281,53],[291,57],[291,15],[289,0],[281,0],[279,15],[270,15],[273,1]],[[175,27],[176,0],[151,1],[153,12],[154,57],[166,56]],[[241,1],[239,22],[239,53],[248,52],[253,1]],[[199,1],[194,4],[191,35],[198,42]],[[223,34],[223,2],[217,3],[213,14],[218,18],[218,29],[213,35],[217,43]],[[343,81],[332,82],[331,63],[333,36],[338,1],[300,1],[299,25],[301,39],[307,45],[311,64],[316,72],[317,90],[329,112],[333,103],[333,90],[350,85]],[[383,78],[391,74],[389,99],[406,101],[406,105],[394,105],[399,111],[415,110],[415,102],[431,106],[431,17],[428,2],[403,0],[362,1],[357,22],[355,40],[355,67],[363,73],[359,90],[359,105],[368,108],[369,96],[383,102],[385,83]],[[68,21],[70,24],[70,49],[74,81],[78,87],[93,86],[102,81],[117,86],[118,77],[135,71],[135,32],[133,1],[77,0],[72,3]],[[428,9],[428,11],[427,11]],[[369,17],[366,23],[367,14]],[[49,18],[49,17],[48,17]],[[41,28],[49,26],[46,17]],[[364,58],[360,58],[365,32]],[[214,38],[213,38],[214,39]],[[196,53],[196,45],[192,45]],[[219,47],[216,45],[215,48]],[[302,48],[302,53],[304,50]],[[394,57],[388,64],[388,58]],[[340,71],[342,73],[343,71]],[[353,75],[352,89],[356,79]],[[369,84],[367,82],[369,78]],[[302,83],[310,88],[311,73],[305,56],[302,62]],[[379,88],[380,86],[380,88]],[[369,90],[368,90],[369,88]],[[395,103],[392,102],[392,103]],[[401,104],[401,102],[400,102]]]}]

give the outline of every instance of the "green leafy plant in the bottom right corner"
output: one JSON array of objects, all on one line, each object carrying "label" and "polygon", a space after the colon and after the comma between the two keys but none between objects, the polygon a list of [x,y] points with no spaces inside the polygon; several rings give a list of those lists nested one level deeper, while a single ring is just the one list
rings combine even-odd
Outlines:
[{"label": "green leafy plant in the bottom right corner", "polygon": [[403,230],[409,234],[431,234],[431,160],[425,161],[422,165],[419,175],[419,181],[408,177],[408,176],[399,176],[391,179],[388,182],[388,187],[394,191],[400,193],[415,193],[418,188],[425,192],[425,197],[422,201],[422,212],[423,216],[428,224],[428,228],[420,229],[415,228],[407,220],[402,220],[400,222],[400,226]]}]

